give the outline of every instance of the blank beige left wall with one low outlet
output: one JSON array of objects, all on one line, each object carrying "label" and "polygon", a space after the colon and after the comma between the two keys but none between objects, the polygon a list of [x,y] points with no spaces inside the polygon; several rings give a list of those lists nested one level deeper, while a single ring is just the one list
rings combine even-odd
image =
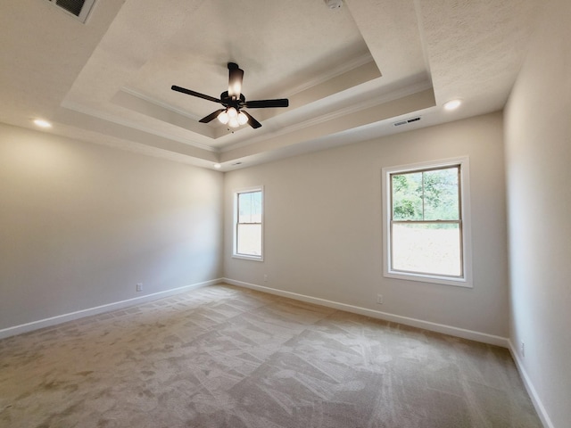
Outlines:
[{"label": "blank beige left wall with one low outlet", "polygon": [[222,185],[216,171],[0,125],[0,331],[219,278]]}]

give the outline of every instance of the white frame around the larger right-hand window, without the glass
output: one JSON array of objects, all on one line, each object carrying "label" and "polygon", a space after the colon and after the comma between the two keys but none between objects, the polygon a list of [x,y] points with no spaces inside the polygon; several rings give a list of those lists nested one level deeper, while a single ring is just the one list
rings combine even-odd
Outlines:
[{"label": "white frame around the larger right-hand window, without the glass", "polygon": [[[393,189],[391,176],[411,172],[430,171],[434,169],[446,169],[459,167],[459,232],[460,232],[460,257],[461,276],[445,276],[417,272],[406,272],[392,268],[393,263]],[[469,160],[468,156],[445,159],[440,161],[425,161],[395,167],[386,167],[382,171],[383,189],[383,276],[394,279],[409,281],[421,281],[425,283],[454,285],[472,288],[472,237],[470,218],[470,195],[469,195]],[[435,222],[434,222],[435,223]]]}]

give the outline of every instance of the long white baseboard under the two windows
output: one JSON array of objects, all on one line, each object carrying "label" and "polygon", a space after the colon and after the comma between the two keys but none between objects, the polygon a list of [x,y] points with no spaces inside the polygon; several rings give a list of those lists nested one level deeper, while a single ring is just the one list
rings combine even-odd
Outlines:
[{"label": "long white baseboard under the two windows", "polygon": [[277,296],[287,297],[294,300],[302,300],[308,303],[314,303],[316,305],[326,306],[327,308],[345,310],[347,312],[352,312],[354,314],[360,314],[367,317],[384,319],[385,321],[392,321],[394,323],[400,323],[404,325],[410,325],[413,327],[423,328],[425,330],[430,330],[431,332],[450,334],[451,336],[461,337],[463,339],[468,339],[470,341],[489,343],[491,345],[501,346],[502,348],[509,348],[509,342],[507,338],[501,336],[494,336],[493,334],[475,332],[472,330],[466,330],[464,328],[453,327],[451,325],[431,323],[429,321],[424,321],[422,319],[417,319],[417,318],[401,317],[400,315],[390,314],[388,312],[381,312],[379,310],[361,308],[359,306],[348,305],[346,303],[340,303],[338,301],[319,299],[317,297],[298,294],[296,292],[285,292],[283,290],[277,290],[274,288],[264,287],[262,285],[257,285],[257,284],[244,283],[243,281],[236,281],[230,278],[223,278],[223,281],[227,284],[236,285],[238,287],[249,288],[252,290],[257,290],[259,292],[268,292],[269,294],[275,294]]}]

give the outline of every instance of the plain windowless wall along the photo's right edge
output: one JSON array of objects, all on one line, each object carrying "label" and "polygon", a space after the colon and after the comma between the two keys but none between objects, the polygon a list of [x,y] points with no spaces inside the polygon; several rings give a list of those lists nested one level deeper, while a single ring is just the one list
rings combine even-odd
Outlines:
[{"label": "plain windowless wall along the photo's right edge", "polygon": [[558,428],[571,421],[570,40],[571,2],[554,0],[510,95],[505,137],[510,340]]}]

